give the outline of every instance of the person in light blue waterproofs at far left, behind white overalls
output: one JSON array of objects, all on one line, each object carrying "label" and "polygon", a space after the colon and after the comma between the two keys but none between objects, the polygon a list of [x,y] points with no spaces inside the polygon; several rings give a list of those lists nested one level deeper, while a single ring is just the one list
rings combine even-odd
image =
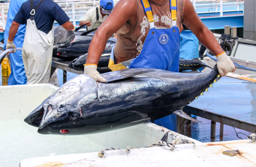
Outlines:
[{"label": "person in light blue waterproofs at far left, behind white overalls", "polygon": [[[26,0],[12,0],[10,2],[10,7],[8,10],[8,16],[7,16],[7,22],[5,26],[5,32],[4,32],[4,46],[7,44],[7,39],[9,35],[9,29],[12,25],[12,21],[16,15],[16,13],[19,11],[19,8],[21,8],[21,5],[23,2],[26,2]],[[24,35],[26,31],[25,25],[20,25],[19,29],[14,37],[14,44],[17,47],[22,47],[23,41],[24,41]],[[26,84],[27,78],[24,70],[24,65],[21,57],[21,51],[17,51],[15,53],[10,53],[10,64],[11,64],[11,73],[8,79],[8,85],[19,85],[19,84]]]}]

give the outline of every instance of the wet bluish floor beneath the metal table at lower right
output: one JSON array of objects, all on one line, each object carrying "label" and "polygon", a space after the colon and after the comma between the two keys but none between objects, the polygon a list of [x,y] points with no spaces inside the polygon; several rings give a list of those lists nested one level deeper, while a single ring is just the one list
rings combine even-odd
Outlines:
[{"label": "wet bluish floor beneath the metal table at lower right", "polygon": [[[220,123],[216,123],[216,136],[215,138],[211,139],[211,120],[207,120],[201,117],[197,117],[197,120],[203,121],[203,122],[194,122],[191,121],[191,123],[185,124],[185,131],[182,133],[182,135],[185,135],[187,137],[191,137],[195,140],[198,140],[200,142],[221,142],[221,141],[229,141],[229,140],[242,140],[247,139],[247,136],[251,135],[251,132],[241,130],[238,128],[235,128],[237,131],[238,136],[242,139],[237,137],[237,134],[235,133],[235,130],[233,127],[230,127],[228,125],[224,125],[223,128],[223,136],[220,136]],[[244,133],[244,134],[241,134]]]}]

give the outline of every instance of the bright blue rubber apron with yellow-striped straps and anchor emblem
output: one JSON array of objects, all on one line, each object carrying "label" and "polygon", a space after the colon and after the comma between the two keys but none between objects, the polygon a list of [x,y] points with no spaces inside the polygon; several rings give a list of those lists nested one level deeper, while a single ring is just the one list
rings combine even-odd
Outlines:
[{"label": "bright blue rubber apron with yellow-striped straps and anchor emblem", "polygon": [[[176,0],[170,0],[171,28],[155,29],[154,19],[148,0],[141,0],[144,12],[149,20],[150,30],[144,41],[142,51],[138,57],[119,64],[114,64],[114,48],[112,48],[109,60],[109,68],[112,71],[125,68],[156,68],[168,71],[179,71],[180,33],[176,25]],[[154,123],[173,131],[177,131],[176,115],[172,114],[155,120]]]}]

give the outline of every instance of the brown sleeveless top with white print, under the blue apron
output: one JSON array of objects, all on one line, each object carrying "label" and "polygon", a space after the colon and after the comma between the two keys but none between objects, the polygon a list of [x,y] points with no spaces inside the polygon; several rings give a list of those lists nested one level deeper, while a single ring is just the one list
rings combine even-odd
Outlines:
[{"label": "brown sleeveless top with white print, under the blue apron", "polygon": [[[144,12],[142,3],[140,0],[135,0],[137,7],[137,21],[134,27],[126,34],[118,32],[118,39],[114,47],[114,59],[115,64],[128,61],[137,57],[142,51],[144,40],[149,31],[149,21],[147,15]],[[177,26],[180,30],[182,23],[183,10],[185,0],[176,0],[177,2]],[[149,0],[152,8],[152,14],[154,17],[154,23],[156,29],[171,28],[171,11],[170,0],[166,0],[164,3],[156,3]],[[154,42],[154,41],[152,41]]]}]

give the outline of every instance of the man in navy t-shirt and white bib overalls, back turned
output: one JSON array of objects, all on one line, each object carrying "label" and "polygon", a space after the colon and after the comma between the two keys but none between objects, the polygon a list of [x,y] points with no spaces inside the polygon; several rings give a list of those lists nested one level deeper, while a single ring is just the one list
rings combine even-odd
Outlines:
[{"label": "man in navy t-shirt and white bib overalls, back turned", "polygon": [[66,30],[75,30],[74,25],[61,7],[52,0],[28,0],[21,5],[9,30],[6,49],[13,43],[20,24],[26,24],[22,47],[22,60],[27,84],[49,83],[54,42],[54,20]]}]

